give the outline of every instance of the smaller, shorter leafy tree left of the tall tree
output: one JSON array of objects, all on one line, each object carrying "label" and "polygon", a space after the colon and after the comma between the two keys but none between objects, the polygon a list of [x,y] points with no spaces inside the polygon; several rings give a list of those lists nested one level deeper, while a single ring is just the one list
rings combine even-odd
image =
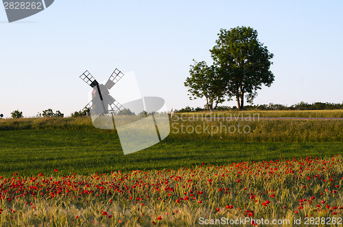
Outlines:
[{"label": "smaller, shorter leafy tree left of the tall tree", "polygon": [[215,65],[207,66],[206,62],[196,62],[190,65],[190,76],[184,83],[188,89],[189,99],[206,98],[207,110],[213,110],[217,105],[224,101],[225,83]]}]

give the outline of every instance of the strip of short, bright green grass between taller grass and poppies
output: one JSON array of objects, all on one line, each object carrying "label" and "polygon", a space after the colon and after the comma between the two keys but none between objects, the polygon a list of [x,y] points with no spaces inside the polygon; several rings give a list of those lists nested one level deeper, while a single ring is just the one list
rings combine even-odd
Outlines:
[{"label": "strip of short, bright green grass between taller grass and poppies", "polygon": [[342,153],[342,142],[226,142],[167,138],[162,143],[124,156],[115,133],[91,130],[1,131],[0,176],[108,173],[117,170],[178,169],[200,165],[275,160],[294,156]]}]

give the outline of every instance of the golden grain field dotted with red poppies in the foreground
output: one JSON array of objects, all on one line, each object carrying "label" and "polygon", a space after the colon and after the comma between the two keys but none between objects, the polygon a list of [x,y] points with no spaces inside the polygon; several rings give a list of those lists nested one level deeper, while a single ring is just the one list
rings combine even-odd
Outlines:
[{"label": "golden grain field dotted with red poppies in the foreground", "polygon": [[0,226],[198,226],[239,219],[244,226],[267,220],[295,226],[299,218],[301,225],[337,225],[342,182],[341,155],[88,176],[58,169],[13,173],[0,176]]}]

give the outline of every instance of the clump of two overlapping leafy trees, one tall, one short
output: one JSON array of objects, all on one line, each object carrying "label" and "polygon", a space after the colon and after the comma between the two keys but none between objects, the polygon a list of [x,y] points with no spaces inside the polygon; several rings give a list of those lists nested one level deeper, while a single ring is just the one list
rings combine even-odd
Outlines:
[{"label": "clump of two overlapping leafy trees, one tall, one short", "polygon": [[257,39],[251,27],[220,29],[216,45],[210,50],[213,65],[196,62],[190,66],[185,86],[189,98],[206,98],[208,110],[235,97],[237,108],[244,109],[244,98],[252,104],[262,85],[270,86],[274,75],[270,71],[273,54]]}]

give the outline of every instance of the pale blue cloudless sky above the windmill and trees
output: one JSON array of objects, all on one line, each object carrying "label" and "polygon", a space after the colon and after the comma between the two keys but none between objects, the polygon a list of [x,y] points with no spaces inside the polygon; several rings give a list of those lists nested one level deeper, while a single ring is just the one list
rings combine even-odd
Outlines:
[{"label": "pale blue cloudless sky above the windmill and trees", "polygon": [[342,1],[56,0],[17,23],[0,8],[0,113],[82,109],[86,69],[99,81],[115,68],[134,71],[142,95],[163,97],[169,108],[203,106],[183,85],[189,64],[211,64],[220,28],[241,25],[257,29],[274,53],[274,84],[255,104],[341,103],[342,8]]}]

